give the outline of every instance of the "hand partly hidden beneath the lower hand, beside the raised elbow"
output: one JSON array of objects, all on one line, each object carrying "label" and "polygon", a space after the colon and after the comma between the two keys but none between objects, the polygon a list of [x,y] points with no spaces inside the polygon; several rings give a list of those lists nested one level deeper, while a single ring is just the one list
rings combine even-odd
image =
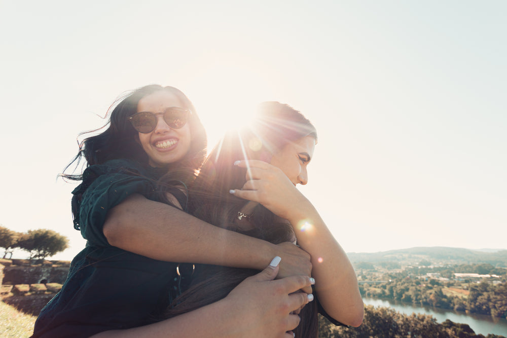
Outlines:
[{"label": "hand partly hidden beneath the lower hand, beside the raised elbow", "polygon": [[[282,258],[278,278],[296,275],[311,277],[312,264],[308,252],[291,242],[276,244],[275,250],[276,254]],[[307,286],[302,291],[311,293],[312,288]]]}]

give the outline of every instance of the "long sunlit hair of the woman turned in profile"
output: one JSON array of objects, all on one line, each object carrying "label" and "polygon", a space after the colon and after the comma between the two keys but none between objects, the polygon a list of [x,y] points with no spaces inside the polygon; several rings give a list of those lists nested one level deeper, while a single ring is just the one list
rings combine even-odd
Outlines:
[{"label": "long sunlit hair of the woman turned in profile", "polygon": [[[237,231],[272,243],[292,242],[291,224],[262,205],[253,211],[253,229],[239,230],[234,220],[248,201],[229,194],[246,182],[246,169],[234,166],[241,159],[271,161],[271,156],[287,143],[305,136],[317,141],[315,127],[301,112],[278,102],[264,102],[249,127],[228,132],[208,155],[190,190],[189,212],[215,226]],[[175,299],[164,318],[186,313],[224,298],[245,278],[258,273],[251,269],[198,265],[192,286]],[[300,313],[297,337],[317,336],[316,303],[311,302]]]}]

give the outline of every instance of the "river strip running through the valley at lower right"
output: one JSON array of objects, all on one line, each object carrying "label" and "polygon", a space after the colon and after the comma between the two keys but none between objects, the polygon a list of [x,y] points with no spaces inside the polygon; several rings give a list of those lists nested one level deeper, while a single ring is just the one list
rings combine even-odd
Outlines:
[{"label": "river strip running through the valley at lower right", "polygon": [[456,312],[452,310],[444,310],[431,307],[418,307],[408,303],[396,301],[386,301],[384,299],[363,298],[365,305],[389,307],[397,312],[411,315],[412,313],[421,313],[431,315],[437,318],[439,323],[449,319],[455,323],[468,324],[476,334],[488,335],[488,333],[500,334],[507,336],[507,319],[493,318],[486,315],[467,315],[464,312]]}]

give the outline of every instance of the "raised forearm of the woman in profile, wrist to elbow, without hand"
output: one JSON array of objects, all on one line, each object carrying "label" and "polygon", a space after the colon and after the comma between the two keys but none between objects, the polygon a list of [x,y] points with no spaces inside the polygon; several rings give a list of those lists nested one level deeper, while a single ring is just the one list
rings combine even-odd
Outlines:
[{"label": "raised forearm of the woman in profile, wrist to elbow, without hand", "polygon": [[363,320],[364,305],[345,251],[311,203],[298,208],[289,221],[295,228],[298,245],[311,255],[320,304],[343,324],[358,326]]}]

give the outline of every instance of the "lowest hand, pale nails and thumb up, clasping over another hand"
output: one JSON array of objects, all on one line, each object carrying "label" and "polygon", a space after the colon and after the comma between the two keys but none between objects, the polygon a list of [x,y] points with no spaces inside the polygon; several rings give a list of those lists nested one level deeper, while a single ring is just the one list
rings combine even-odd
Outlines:
[{"label": "lowest hand, pale nails and thumb up, clasping over another hand", "polygon": [[293,338],[291,330],[300,322],[294,312],[313,299],[296,291],[309,287],[311,282],[307,276],[273,280],[278,270],[278,266],[268,266],[246,278],[224,298],[230,304],[232,318],[240,318],[236,321],[237,336]]}]

